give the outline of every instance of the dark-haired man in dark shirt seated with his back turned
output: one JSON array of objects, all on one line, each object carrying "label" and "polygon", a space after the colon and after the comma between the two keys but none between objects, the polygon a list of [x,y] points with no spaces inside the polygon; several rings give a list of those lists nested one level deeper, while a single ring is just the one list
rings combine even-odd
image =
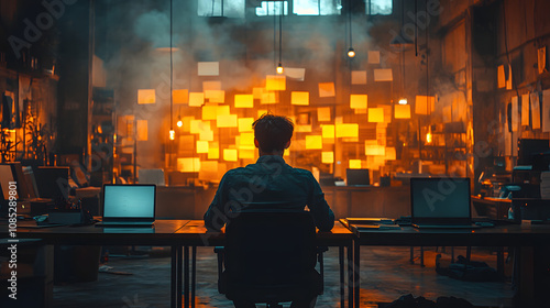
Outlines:
[{"label": "dark-haired man in dark shirt seated with his back turned", "polygon": [[[226,173],[205,213],[206,227],[219,231],[242,211],[302,211],[307,206],[316,227],[330,231],[334,213],[319,183],[309,170],[293,168],[283,158],[285,148],[290,146],[293,122],[286,117],[267,113],[252,127],[260,158],[255,164]],[[315,301],[316,297],[296,299],[292,307],[314,307]],[[235,307],[255,307],[253,302],[234,304]]]}]

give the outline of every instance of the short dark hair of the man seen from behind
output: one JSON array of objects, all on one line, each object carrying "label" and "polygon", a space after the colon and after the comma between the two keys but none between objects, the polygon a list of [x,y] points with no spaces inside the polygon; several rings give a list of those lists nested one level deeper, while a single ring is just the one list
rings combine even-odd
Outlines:
[{"label": "short dark hair of the man seen from behind", "polygon": [[290,119],[271,113],[264,113],[252,123],[254,136],[260,148],[265,153],[285,150],[285,145],[293,138],[294,124]]}]

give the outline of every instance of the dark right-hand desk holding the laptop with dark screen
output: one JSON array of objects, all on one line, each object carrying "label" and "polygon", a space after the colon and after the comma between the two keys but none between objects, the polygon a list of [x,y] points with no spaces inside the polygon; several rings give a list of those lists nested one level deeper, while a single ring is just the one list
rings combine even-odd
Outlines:
[{"label": "dark right-hand desk holding the laptop with dark screen", "polygon": [[[358,237],[354,244],[354,304],[359,307],[361,245],[373,246],[512,246],[540,248],[550,245],[549,224],[506,224],[482,229],[431,229],[418,230],[413,227],[402,227],[396,230],[369,229],[361,230],[351,224],[350,230]],[[519,254],[518,254],[519,255]],[[528,255],[527,255],[528,256]],[[532,256],[532,255],[531,255]],[[526,261],[526,260],[524,260]],[[530,264],[530,260],[525,263]],[[524,263],[524,262],[521,262]],[[531,264],[532,265],[532,264]],[[522,268],[526,272],[528,268]],[[524,273],[521,273],[524,274]],[[531,273],[532,274],[532,273]],[[529,274],[527,274],[527,279]],[[529,282],[521,282],[520,284]],[[532,276],[531,276],[532,278]],[[531,282],[532,283],[532,282]],[[532,289],[520,288],[519,300],[531,300],[536,296]]]}]

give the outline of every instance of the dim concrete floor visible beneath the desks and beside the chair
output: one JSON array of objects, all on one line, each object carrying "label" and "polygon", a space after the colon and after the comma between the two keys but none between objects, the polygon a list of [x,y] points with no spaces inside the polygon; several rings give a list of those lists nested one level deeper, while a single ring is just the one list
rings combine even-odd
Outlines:
[{"label": "dim concrete floor visible beneath the desks and beside the chair", "polygon": [[[419,250],[416,249],[417,255]],[[450,249],[447,249],[450,252]],[[455,255],[465,255],[457,248]],[[361,251],[361,304],[391,302],[403,295],[413,294],[435,300],[439,296],[468,299],[476,306],[510,307],[514,293],[509,282],[471,283],[438,275],[435,271],[436,249],[427,248],[426,266],[409,263],[408,248],[363,248]],[[166,255],[166,254],[165,254]],[[217,261],[211,248],[197,250],[197,306],[233,307],[231,301],[217,290]],[[443,258],[450,254],[443,254]],[[474,249],[473,261],[484,261],[495,267],[496,255],[483,249]],[[338,249],[331,248],[324,256],[324,294],[319,296],[316,307],[339,307]],[[169,257],[163,256],[113,256],[110,272],[130,275],[99,273],[98,280],[73,283],[54,288],[53,307],[168,307],[169,306]],[[260,305],[258,305],[260,306]],[[285,307],[288,307],[285,306]],[[374,306],[376,307],[376,306]]]}]

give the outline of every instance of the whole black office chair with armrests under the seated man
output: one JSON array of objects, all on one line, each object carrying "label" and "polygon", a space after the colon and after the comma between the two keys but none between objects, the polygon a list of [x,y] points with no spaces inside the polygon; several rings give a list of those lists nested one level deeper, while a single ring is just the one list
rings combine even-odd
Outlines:
[{"label": "whole black office chair with armrests under the seated man", "polygon": [[327,249],[317,249],[315,240],[309,212],[239,213],[226,227],[226,246],[215,249],[220,294],[268,307],[322,294]]}]

